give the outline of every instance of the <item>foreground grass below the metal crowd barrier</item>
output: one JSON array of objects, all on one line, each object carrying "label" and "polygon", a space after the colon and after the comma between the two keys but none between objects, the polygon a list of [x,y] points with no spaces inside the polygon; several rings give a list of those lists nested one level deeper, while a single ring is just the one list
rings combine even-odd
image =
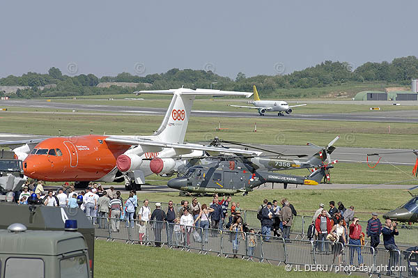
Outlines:
[{"label": "foreground grass below the metal crowd barrier", "polygon": [[[95,277],[343,277],[327,272],[286,272],[284,266],[192,254],[173,249],[95,240]],[[352,276],[353,277],[353,276]]]}]

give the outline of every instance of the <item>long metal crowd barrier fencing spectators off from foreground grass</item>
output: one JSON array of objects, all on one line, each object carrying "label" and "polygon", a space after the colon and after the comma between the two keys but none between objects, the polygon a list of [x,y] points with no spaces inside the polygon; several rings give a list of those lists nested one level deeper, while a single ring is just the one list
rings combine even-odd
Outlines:
[{"label": "long metal crowd barrier fencing spectators off from foreground grass", "polygon": [[[97,217],[95,238],[123,240],[143,245],[167,245],[169,248],[192,249],[202,254],[238,256],[277,265],[350,266],[351,272],[389,277],[418,277],[418,253],[339,242],[286,239],[270,236],[268,242],[258,233],[202,229],[167,222]],[[303,217],[302,217],[303,219]],[[129,225],[128,225],[129,224]],[[133,225],[132,225],[133,224]],[[127,226],[128,225],[128,226]],[[205,234],[207,232],[208,241]],[[361,268],[365,265],[367,268]],[[388,268],[384,266],[387,265]],[[374,268],[373,268],[374,266]],[[391,269],[391,267],[393,267]]]}]

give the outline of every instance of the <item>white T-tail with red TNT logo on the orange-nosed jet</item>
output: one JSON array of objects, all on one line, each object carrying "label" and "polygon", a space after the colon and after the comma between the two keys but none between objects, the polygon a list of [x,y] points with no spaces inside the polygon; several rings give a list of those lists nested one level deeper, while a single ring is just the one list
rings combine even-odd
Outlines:
[{"label": "white T-tail with red TNT logo on the orange-nosed jet", "polygon": [[233,91],[220,91],[196,88],[192,90],[189,88],[178,88],[175,90],[160,90],[160,91],[139,91],[135,92],[137,95],[141,93],[149,94],[172,94],[167,113],[162,120],[160,128],[154,132],[154,136],[160,141],[167,143],[183,143],[189,123],[190,113],[192,111],[192,105],[196,95],[244,95],[249,98],[252,93],[246,92],[233,92]]}]

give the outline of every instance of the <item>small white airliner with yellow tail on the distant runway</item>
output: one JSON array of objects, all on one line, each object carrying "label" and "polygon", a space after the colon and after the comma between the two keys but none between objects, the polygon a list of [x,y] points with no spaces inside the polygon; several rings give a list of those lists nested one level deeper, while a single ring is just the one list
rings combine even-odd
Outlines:
[{"label": "small white airliner with yellow tail on the distant runway", "polygon": [[251,108],[251,109],[258,109],[258,114],[260,116],[264,116],[265,112],[278,112],[277,116],[284,116],[284,113],[291,114],[293,108],[305,106],[304,105],[293,105],[289,106],[287,102],[281,100],[260,100],[258,97],[257,88],[254,85],[254,101],[249,102],[254,106],[243,106],[243,105],[229,105],[231,107],[241,107],[241,108]]}]

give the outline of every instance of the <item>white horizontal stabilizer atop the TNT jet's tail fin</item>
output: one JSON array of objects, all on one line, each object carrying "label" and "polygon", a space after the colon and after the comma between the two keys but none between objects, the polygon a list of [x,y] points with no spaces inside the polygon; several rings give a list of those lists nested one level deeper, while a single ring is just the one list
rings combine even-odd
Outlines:
[{"label": "white horizontal stabilizer atop the TNT jet's tail fin", "polygon": [[221,90],[212,90],[208,88],[196,88],[196,90],[193,90],[191,88],[178,88],[178,89],[170,89],[170,90],[137,91],[134,93],[136,93],[137,95],[141,93],[162,94],[162,95],[169,95],[173,93],[179,93],[180,95],[215,95],[215,96],[235,95],[235,96],[245,96],[245,98],[249,98],[251,97],[251,95],[253,95],[253,93],[248,93],[248,92],[221,91]]}]

